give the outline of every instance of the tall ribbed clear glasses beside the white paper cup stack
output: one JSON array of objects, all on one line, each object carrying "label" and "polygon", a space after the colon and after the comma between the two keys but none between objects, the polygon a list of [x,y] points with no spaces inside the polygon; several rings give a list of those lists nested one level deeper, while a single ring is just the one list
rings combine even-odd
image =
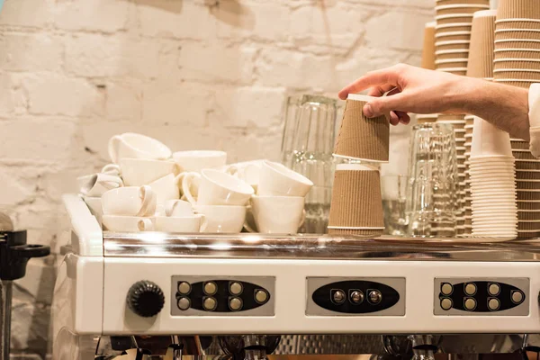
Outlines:
[{"label": "tall ribbed clear glasses beside the white paper cup stack", "polygon": [[460,202],[455,136],[450,125],[413,128],[408,177],[408,235],[455,237]]}]

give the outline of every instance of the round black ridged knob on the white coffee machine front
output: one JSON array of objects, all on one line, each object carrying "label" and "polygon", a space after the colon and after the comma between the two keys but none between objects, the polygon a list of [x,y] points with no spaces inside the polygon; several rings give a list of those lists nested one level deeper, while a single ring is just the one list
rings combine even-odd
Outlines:
[{"label": "round black ridged knob on the white coffee machine front", "polygon": [[163,309],[165,296],[157,284],[142,280],[131,285],[127,301],[131,311],[143,318],[151,318]]}]

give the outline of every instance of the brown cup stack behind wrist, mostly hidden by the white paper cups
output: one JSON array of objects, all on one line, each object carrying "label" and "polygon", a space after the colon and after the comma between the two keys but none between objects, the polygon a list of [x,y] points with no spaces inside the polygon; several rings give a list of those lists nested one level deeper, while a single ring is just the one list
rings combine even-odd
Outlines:
[{"label": "brown cup stack behind wrist, mostly hidden by the white paper cups", "polygon": [[[467,76],[479,77],[491,81],[493,77],[493,40],[495,31],[496,10],[484,10],[474,13],[473,30]],[[469,174],[469,157],[473,139],[474,116],[465,116],[465,235],[472,234],[473,209],[471,194],[471,178]],[[462,150],[458,148],[458,152]]]}]

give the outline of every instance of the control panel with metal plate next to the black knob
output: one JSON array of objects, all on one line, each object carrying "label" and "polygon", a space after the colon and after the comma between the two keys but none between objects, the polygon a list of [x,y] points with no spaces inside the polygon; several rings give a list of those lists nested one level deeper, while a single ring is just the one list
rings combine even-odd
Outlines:
[{"label": "control panel with metal plate next to the black knob", "polygon": [[175,275],[171,287],[171,315],[275,315],[274,277]]}]

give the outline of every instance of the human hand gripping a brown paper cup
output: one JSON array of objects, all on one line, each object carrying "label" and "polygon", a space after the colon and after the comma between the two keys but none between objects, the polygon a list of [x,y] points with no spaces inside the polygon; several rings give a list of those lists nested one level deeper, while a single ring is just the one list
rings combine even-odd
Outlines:
[{"label": "human hand gripping a brown paper cup", "polygon": [[465,113],[466,94],[482,85],[478,81],[482,80],[399,64],[365,74],[343,88],[339,98],[345,100],[348,94],[369,88],[368,94],[378,99],[365,104],[365,116],[390,112],[392,125],[408,124],[408,112]]}]

